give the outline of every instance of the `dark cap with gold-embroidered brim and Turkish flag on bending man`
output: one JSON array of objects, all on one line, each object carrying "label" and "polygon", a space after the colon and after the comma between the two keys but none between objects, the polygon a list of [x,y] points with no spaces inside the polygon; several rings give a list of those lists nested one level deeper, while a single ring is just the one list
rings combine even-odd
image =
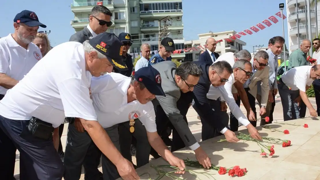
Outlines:
[{"label": "dark cap with gold-embroidered brim and Turkish flag on bending man", "polygon": [[122,46],[123,43],[113,33],[100,33],[89,40],[89,44],[94,49],[101,52],[107,57],[109,62],[121,71],[128,70],[127,65],[122,60]]}]

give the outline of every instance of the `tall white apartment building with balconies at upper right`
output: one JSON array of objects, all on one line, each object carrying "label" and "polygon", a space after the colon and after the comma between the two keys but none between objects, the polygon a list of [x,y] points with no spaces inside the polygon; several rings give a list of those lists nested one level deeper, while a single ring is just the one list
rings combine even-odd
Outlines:
[{"label": "tall white apartment building with balconies at upper right", "polygon": [[[298,42],[298,26],[297,20],[299,17],[299,37],[300,43],[303,39],[307,38],[307,11],[306,11],[306,3],[305,0],[297,0],[298,1],[298,9],[296,8],[296,0],[287,0],[287,21],[288,21],[288,35],[289,35],[289,53],[297,50],[299,48]],[[309,39],[314,39],[316,37],[316,33],[319,29],[316,29],[316,11],[315,6],[312,5],[310,8],[311,14],[311,32],[312,37]],[[297,11],[298,10],[298,11]],[[318,13],[320,14],[320,5],[317,5]],[[320,23],[320,16],[318,15],[318,24]]]}]

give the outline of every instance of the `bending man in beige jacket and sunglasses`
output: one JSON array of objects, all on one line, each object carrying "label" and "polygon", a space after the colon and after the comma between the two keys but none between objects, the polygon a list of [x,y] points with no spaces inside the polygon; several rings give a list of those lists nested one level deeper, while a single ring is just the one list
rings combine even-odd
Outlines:
[{"label": "bending man in beige jacket and sunglasses", "polygon": [[[269,97],[269,67],[268,67],[269,55],[266,51],[258,51],[252,60],[253,74],[244,83],[244,90],[247,93],[248,100],[252,111],[254,112],[255,119],[257,119],[256,112],[256,99],[260,105],[261,119],[269,117],[270,107],[268,104]],[[257,94],[258,84],[261,84],[261,95]],[[270,97],[272,98],[272,96]],[[250,121],[250,123],[256,127],[257,121]],[[261,125],[261,121],[260,121]]]}]

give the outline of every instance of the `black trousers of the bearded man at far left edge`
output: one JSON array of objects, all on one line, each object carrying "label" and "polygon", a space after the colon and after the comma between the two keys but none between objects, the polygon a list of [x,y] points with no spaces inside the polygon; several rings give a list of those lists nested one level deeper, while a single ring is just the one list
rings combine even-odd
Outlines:
[{"label": "black trousers of the bearded man at far left edge", "polygon": [[[0,94],[0,100],[4,95]],[[4,148],[1,148],[4,147]],[[14,165],[16,162],[17,148],[10,138],[0,128],[0,176],[3,179],[14,179]]]}]

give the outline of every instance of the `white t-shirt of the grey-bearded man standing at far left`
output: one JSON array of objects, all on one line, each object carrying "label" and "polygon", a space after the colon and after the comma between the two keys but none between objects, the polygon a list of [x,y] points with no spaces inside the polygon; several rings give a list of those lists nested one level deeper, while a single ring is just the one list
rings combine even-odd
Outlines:
[{"label": "white t-shirt of the grey-bearded man standing at far left", "polygon": [[[0,73],[17,81],[20,81],[41,58],[36,44],[29,43],[28,49],[25,49],[13,39],[12,34],[0,39]],[[5,95],[7,90],[0,86],[0,94]]]}]

